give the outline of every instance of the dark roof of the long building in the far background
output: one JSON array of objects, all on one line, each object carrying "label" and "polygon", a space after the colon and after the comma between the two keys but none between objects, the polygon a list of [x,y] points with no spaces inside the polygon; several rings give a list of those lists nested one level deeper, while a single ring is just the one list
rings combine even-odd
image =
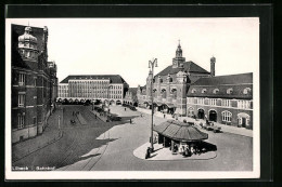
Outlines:
[{"label": "dark roof of the long building in the far background", "polygon": [[119,75],[72,75],[67,76],[60,83],[68,83],[68,80],[81,80],[81,79],[93,79],[93,80],[106,80],[110,79],[111,83],[126,83],[126,81]]}]

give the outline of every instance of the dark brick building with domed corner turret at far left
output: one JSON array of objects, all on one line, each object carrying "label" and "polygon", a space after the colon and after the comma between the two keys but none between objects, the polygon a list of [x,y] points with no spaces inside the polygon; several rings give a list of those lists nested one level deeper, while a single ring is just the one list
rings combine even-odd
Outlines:
[{"label": "dark brick building with domed corner turret at far left", "polygon": [[41,134],[54,108],[56,65],[48,28],[12,25],[12,143]]}]

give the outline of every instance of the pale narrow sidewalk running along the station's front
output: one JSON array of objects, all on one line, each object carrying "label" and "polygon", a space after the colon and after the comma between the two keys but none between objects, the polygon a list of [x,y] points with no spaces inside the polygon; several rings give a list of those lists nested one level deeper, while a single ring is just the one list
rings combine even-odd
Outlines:
[{"label": "pale narrow sidewalk running along the station's front", "polygon": [[[152,113],[152,110],[150,110],[150,109],[137,107],[137,110],[140,111],[140,112],[148,113],[148,115]],[[159,118],[164,118],[164,113],[162,113],[159,111],[155,112],[154,116],[159,117]],[[176,120],[175,118],[171,117],[171,115],[167,115],[167,113],[166,113],[166,119],[167,120],[169,120],[169,119]],[[200,122],[205,123],[204,120],[197,120],[196,121],[195,119],[190,118],[190,117],[178,117],[178,120],[179,121],[183,121],[183,120],[191,121],[191,122],[194,122],[197,125],[200,124]],[[232,126],[232,125],[226,125],[226,124],[221,124],[221,123],[218,123],[218,122],[215,122],[214,124],[217,125],[217,126],[220,126],[221,131],[223,133],[239,134],[239,135],[243,135],[243,136],[253,137],[253,130],[248,130],[248,129],[245,129],[245,128]]]}]

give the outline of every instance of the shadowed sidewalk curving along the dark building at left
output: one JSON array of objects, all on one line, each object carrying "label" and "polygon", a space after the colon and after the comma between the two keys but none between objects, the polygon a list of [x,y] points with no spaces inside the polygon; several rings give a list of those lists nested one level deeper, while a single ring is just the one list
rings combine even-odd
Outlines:
[{"label": "shadowed sidewalk curving along the dark building at left", "polygon": [[12,146],[12,162],[15,162],[56,141],[59,141],[63,133],[59,131],[57,121],[61,116],[60,123],[63,124],[62,110],[56,109],[48,119],[48,124],[41,135],[34,138],[26,139]]}]

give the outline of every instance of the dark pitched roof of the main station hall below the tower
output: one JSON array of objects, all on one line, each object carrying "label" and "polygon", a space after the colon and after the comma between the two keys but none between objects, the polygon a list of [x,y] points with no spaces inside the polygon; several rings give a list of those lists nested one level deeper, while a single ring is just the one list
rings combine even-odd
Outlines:
[{"label": "dark pitched roof of the main station hall below the tower", "polygon": [[[183,68],[184,68],[183,71],[188,71],[188,72],[209,74],[207,70],[205,70],[202,67],[200,67],[198,65],[196,65],[192,61],[183,63]],[[167,66],[161,72],[158,72],[155,77],[157,77],[157,76],[167,76],[168,74],[169,75],[174,75],[174,74],[179,72],[180,70],[181,70],[181,68],[172,68],[172,65],[170,65],[170,66]]]}]

